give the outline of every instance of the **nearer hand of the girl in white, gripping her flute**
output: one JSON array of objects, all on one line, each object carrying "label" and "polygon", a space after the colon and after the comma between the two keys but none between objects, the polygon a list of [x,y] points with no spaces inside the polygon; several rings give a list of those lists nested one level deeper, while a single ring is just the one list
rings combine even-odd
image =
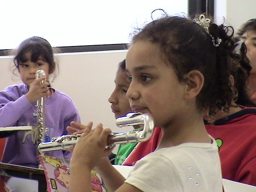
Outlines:
[{"label": "nearer hand of the girl in white, gripping her flute", "polygon": [[86,166],[92,170],[102,156],[108,156],[112,151],[106,149],[107,138],[110,133],[111,130],[109,128],[103,129],[102,124],[98,124],[92,130],[92,123],[90,122],[74,147],[71,165]]}]

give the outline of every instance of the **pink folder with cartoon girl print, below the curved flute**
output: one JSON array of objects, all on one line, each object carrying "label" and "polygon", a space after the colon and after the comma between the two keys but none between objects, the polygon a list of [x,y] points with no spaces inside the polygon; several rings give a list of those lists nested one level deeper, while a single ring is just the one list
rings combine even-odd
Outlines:
[{"label": "pink folder with cartoon girl print, below the curved flute", "polygon": [[[70,160],[51,156],[39,156],[46,176],[48,192],[68,192]],[[108,192],[98,172],[91,172],[92,192]]]}]

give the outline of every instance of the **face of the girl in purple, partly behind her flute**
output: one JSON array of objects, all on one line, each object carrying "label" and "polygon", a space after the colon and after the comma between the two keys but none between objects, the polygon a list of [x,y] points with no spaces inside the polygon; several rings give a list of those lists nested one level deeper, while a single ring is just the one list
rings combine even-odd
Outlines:
[{"label": "face of the girl in purple, partly behind her flute", "polygon": [[36,71],[44,70],[46,78],[49,77],[49,64],[40,56],[36,62],[31,62],[31,53],[25,54],[26,62],[19,65],[20,78],[26,85],[30,85],[36,79]]}]

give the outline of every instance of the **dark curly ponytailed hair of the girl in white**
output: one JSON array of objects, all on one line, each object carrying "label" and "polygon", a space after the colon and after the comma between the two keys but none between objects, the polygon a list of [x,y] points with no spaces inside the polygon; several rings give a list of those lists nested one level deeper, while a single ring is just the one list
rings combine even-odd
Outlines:
[{"label": "dark curly ponytailed hair of the girl in white", "polygon": [[[204,75],[204,86],[197,106],[214,116],[217,109],[228,112],[234,98],[230,82],[231,54],[234,48],[232,27],[210,24],[208,32],[184,16],[166,16],[147,24],[132,38],[159,44],[162,58],[170,63],[180,81],[191,70]],[[216,39],[222,42],[214,46]],[[213,42],[214,41],[214,42]]]}]

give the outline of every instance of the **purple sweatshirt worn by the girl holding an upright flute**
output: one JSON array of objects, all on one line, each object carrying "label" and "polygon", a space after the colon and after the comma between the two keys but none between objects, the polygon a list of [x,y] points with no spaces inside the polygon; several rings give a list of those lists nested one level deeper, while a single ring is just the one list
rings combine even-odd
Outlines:
[{"label": "purple sweatshirt worn by the girl holding an upright flute", "polygon": [[[23,83],[8,86],[0,91],[0,127],[37,125],[37,118],[33,116],[33,113],[37,111],[36,102],[30,104],[25,96],[27,92]],[[48,128],[44,134],[45,140],[50,141],[52,137],[70,134],[66,130],[70,122],[80,122],[78,110],[72,99],[55,90],[54,94],[45,100],[45,103],[45,127]],[[37,145],[36,142],[35,144],[32,142],[35,136],[26,134],[27,132],[18,131],[17,134],[7,138],[2,162],[38,168]],[[71,157],[70,152],[62,150],[46,152],[44,155],[68,159]]]}]

